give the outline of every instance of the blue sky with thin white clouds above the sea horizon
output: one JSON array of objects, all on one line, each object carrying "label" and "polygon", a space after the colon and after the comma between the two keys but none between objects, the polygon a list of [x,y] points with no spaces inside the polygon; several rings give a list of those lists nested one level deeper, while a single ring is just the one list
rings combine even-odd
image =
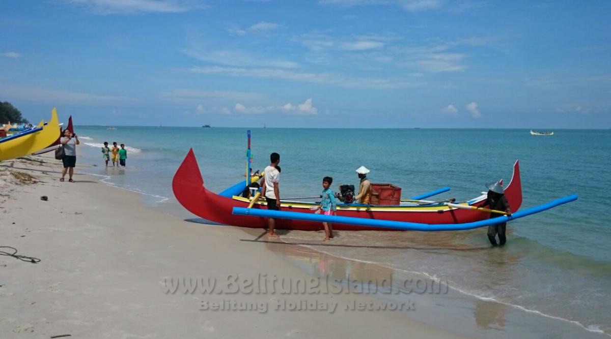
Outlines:
[{"label": "blue sky with thin white clouds above the sea horizon", "polygon": [[610,1],[3,0],[0,101],[109,126],[611,127]]}]

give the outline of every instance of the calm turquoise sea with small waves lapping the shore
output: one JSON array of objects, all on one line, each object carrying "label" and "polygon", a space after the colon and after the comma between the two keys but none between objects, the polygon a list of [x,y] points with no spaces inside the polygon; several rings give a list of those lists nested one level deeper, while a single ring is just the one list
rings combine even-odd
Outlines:
[{"label": "calm turquoise sea with small waves lapping the shore", "polygon": [[[319,246],[323,236],[316,232],[288,232],[282,239],[397,274],[447,279],[454,291],[521,312],[532,324],[572,326],[569,337],[611,336],[611,130],[554,130],[551,137],[523,129],[250,130],[252,168],[265,168],[269,154],[278,152],[286,198],[317,196],[324,176],[333,177],[334,187],[357,186],[355,169],[364,165],[372,182],[401,187],[403,198],[449,186],[434,199],[465,201],[489,182],[508,182],[519,160],[522,209],[573,193],[579,199],[511,221],[503,248],[490,247],[486,228],[340,232],[336,246]],[[90,165],[88,173],[185,219],[195,216],[177,203],[171,181],[189,149],[210,190],[244,180],[247,128],[77,126],[76,133],[78,162]],[[125,169],[104,167],[104,141],[125,143]],[[508,325],[492,319],[483,326],[502,337],[499,327]]]}]

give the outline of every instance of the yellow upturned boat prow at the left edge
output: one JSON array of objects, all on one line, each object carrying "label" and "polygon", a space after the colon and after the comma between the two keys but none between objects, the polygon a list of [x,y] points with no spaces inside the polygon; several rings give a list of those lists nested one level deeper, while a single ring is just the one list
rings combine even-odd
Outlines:
[{"label": "yellow upturned boat prow at the left edge", "polygon": [[[41,125],[42,123],[38,126]],[[53,109],[51,120],[48,124],[42,126],[42,130],[0,143],[0,161],[38,152],[56,141],[59,133],[59,118],[57,118],[56,109]]]}]

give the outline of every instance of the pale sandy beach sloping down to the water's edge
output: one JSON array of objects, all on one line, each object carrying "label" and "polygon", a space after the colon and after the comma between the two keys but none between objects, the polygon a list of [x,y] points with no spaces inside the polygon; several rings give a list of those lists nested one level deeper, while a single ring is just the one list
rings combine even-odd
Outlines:
[{"label": "pale sandy beach sloping down to the water's edge", "polygon": [[[172,278],[316,277],[269,244],[240,241],[256,240],[258,230],[189,223],[82,168],[76,183],[59,182],[51,157],[28,159],[0,166],[0,246],[40,259],[0,256],[2,338],[459,337],[412,319],[414,311],[367,310],[378,298],[365,294],[167,291]],[[349,309],[361,302],[363,310]]]}]

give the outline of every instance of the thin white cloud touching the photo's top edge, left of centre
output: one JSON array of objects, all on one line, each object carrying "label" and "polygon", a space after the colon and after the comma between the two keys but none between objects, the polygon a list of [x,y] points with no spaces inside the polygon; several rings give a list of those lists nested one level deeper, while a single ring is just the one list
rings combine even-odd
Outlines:
[{"label": "thin white cloud touching the photo's top edge, left of centre", "polygon": [[96,14],[180,13],[207,8],[200,0],[57,0]]}]

